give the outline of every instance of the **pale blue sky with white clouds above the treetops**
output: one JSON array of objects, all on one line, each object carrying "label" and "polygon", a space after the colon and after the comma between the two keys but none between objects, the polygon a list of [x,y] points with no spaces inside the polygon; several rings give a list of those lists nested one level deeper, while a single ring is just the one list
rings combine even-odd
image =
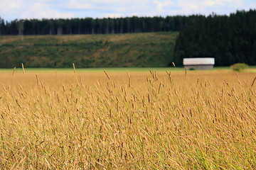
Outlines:
[{"label": "pale blue sky with white clouds above the treetops", "polygon": [[31,18],[119,18],[211,13],[229,15],[256,8],[255,0],[0,0],[5,21]]}]

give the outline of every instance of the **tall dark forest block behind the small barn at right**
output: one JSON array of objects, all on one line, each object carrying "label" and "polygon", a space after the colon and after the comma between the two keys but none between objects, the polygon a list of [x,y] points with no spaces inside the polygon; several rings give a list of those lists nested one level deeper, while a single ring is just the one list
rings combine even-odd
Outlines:
[{"label": "tall dark forest block behind the small barn at right", "polygon": [[176,39],[174,60],[214,57],[216,66],[256,64],[256,11],[237,11],[230,16],[197,16]]}]

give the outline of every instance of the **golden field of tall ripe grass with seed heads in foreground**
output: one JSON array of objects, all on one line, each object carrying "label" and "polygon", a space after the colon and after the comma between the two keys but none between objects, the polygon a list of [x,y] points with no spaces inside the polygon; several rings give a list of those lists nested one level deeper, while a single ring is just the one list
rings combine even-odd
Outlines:
[{"label": "golden field of tall ripe grass with seed heads in foreground", "polygon": [[255,76],[0,72],[0,169],[255,169]]}]

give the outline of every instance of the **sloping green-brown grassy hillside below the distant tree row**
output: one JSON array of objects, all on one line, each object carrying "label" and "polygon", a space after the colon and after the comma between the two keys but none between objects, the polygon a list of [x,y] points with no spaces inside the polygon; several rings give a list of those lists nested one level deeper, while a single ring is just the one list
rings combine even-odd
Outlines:
[{"label": "sloping green-brown grassy hillside below the distant tree row", "polygon": [[178,32],[0,36],[0,67],[166,67]]}]

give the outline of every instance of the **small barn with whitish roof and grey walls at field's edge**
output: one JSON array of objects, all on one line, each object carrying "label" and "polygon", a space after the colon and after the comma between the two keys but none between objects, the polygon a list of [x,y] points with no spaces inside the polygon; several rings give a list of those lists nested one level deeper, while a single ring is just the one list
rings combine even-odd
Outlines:
[{"label": "small barn with whitish roof and grey walls at field's edge", "polygon": [[213,69],[214,58],[183,58],[184,68],[187,69]]}]

